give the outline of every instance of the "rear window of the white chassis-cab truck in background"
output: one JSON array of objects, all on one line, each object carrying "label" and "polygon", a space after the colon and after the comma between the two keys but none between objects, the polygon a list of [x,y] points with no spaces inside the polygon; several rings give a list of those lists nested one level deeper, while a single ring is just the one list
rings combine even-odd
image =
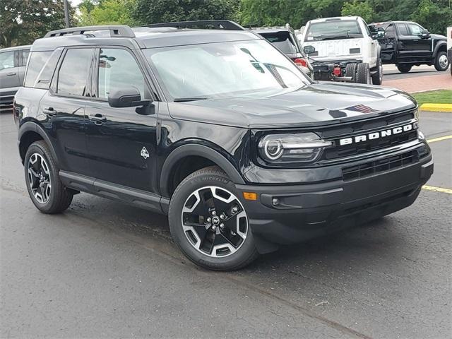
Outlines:
[{"label": "rear window of the white chassis-cab truck in background", "polygon": [[309,25],[304,41],[352,39],[362,37],[356,20],[334,20]]}]

